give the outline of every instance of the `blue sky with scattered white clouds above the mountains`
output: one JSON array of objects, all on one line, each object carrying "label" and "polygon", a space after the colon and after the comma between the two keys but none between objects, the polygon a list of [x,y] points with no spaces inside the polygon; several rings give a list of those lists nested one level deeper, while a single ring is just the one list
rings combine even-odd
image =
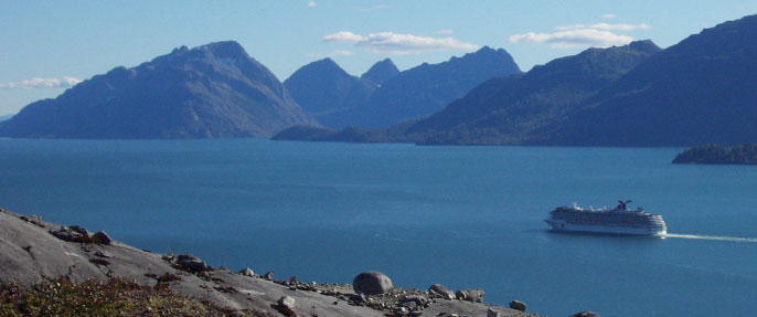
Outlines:
[{"label": "blue sky with scattered white clouds above the mountains", "polygon": [[384,57],[406,70],[483,45],[527,71],[588,46],[651,39],[667,47],[757,13],[756,0],[0,3],[0,115],[181,45],[235,40],[280,81],[326,56],[360,75]]}]

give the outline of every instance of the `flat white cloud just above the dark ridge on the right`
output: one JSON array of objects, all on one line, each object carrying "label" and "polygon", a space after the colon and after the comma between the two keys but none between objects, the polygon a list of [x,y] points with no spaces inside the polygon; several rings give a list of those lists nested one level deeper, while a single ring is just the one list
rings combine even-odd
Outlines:
[{"label": "flat white cloud just above the dark ridge on the right", "polygon": [[623,45],[633,41],[633,38],[628,35],[615,34],[610,31],[595,30],[595,29],[578,29],[557,31],[553,33],[534,33],[516,34],[510,36],[510,42],[533,42],[547,43],[553,49],[576,49],[576,47],[607,47],[612,45]]}]

